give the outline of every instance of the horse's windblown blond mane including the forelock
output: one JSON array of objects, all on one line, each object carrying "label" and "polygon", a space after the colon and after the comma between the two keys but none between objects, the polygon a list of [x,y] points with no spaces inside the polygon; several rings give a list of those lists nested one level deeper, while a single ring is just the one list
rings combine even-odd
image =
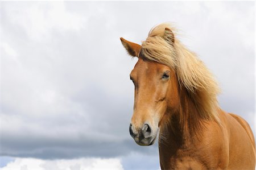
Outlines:
[{"label": "horse's windblown blond mane including the forelock", "polygon": [[[168,28],[174,34],[174,42],[164,38]],[[170,23],[159,24],[151,29],[142,42],[142,52],[148,60],[162,63],[176,72],[180,86],[184,86],[195,103],[201,118],[218,121],[217,95],[220,92],[216,80],[196,53],[189,51],[176,39],[177,30]]]}]

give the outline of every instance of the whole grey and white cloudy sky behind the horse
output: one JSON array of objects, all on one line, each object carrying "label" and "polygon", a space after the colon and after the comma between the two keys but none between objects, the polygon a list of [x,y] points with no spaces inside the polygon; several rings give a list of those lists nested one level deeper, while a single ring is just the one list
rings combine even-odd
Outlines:
[{"label": "whole grey and white cloudy sky behind the horse", "polygon": [[216,76],[222,109],[255,132],[254,1],[1,2],[2,169],[159,169],[129,135],[131,59],[119,40],[173,22]]}]

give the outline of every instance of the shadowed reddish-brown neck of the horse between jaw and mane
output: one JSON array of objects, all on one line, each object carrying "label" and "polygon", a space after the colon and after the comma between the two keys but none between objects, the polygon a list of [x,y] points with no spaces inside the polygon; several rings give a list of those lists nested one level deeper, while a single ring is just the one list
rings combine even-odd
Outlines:
[{"label": "shadowed reddish-brown neck of the horse between jaw and mane", "polygon": [[204,121],[185,88],[181,88],[179,98],[179,106],[175,110],[167,110],[170,121],[161,128],[159,142],[167,140],[187,146],[200,140]]}]

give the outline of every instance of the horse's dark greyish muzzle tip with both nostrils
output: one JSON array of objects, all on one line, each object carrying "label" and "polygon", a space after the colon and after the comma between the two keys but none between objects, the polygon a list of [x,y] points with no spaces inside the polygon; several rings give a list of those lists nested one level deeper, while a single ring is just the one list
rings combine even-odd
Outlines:
[{"label": "horse's dark greyish muzzle tip with both nostrils", "polygon": [[150,146],[155,142],[156,135],[154,135],[152,127],[147,123],[141,128],[135,128],[133,124],[130,124],[130,135],[135,142],[141,146]]}]

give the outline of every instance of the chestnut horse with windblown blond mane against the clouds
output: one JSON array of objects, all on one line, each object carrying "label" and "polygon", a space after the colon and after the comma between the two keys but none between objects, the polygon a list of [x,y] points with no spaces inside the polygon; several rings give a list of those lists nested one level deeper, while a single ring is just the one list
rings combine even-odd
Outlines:
[{"label": "chestnut horse with windblown blond mane against the clouds", "polygon": [[217,81],[170,23],[151,29],[142,45],[120,38],[138,57],[130,135],[150,146],[158,134],[161,169],[255,169],[249,124],[220,108]]}]

